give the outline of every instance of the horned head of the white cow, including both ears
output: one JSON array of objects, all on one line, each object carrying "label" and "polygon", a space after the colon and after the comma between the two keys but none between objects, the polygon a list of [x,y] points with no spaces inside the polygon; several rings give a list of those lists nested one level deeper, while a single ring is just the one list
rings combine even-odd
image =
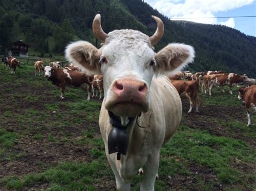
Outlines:
[{"label": "horned head of the white cow, including both ears", "polygon": [[103,46],[97,49],[86,41],[77,41],[65,50],[66,58],[87,74],[103,74],[105,108],[121,119],[149,110],[154,74],[175,73],[194,58],[193,47],[184,44],[169,44],[154,53],[153,45],[163,36],[164,24],[158,17],[152,18],[157,30],[151,37],[134,30],[106,34],[98,14],[93,20],[93,32]]}]

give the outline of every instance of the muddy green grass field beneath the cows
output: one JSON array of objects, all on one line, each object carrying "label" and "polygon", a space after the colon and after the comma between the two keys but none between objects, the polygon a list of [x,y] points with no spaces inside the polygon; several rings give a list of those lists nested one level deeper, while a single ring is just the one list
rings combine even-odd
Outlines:
[{"label": "muddy green grass field beneath the cows", "polygon": [[[0,190],[114,190],[98,127],[101,101],[82,89],[60,89],[35,76],[33,63],[16,74],[0,65]],[[256,115],[247,127],[241,102],[226,89],[200,94],[160,153],[156,190],[255,190]],[[137,175],[132,190],[139,190]]]}]

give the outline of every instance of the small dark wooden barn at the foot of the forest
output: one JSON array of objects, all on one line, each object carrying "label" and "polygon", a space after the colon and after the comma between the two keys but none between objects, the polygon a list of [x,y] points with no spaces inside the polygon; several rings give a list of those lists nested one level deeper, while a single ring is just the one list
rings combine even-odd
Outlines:
[{"label": "small dark wooden barn at the foot of the forest", "polygon": [[24,43],[22,40],[11,43],[9,54],[17,55],[20,57],[28,57],[29,45]]}]

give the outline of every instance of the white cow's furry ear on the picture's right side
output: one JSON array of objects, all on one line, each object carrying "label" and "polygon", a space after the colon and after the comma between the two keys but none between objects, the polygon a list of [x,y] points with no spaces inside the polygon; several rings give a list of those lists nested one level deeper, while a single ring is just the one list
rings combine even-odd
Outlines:
[{"label": "white cow's furry ear on the picture's right side", "polygon": [[194,48],[184,44],[169,44],[155,55],[157,73],[173,74],[194,59]]}]

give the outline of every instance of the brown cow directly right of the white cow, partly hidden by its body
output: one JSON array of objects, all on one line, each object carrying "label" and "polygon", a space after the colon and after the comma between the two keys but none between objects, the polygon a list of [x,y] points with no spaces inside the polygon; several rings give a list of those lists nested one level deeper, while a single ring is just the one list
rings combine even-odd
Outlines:
[{"label": "brown cow directly right of the white cow, partly hidden by its body", "polygon": [[193,109],[193,105],[196,105],[196,112],[199,107],[199,82],[196,80],[183,81],[183,80],[171,80],[173,86],[177,89],[181,98],[188,98],[190,100],[190,113]]}]

